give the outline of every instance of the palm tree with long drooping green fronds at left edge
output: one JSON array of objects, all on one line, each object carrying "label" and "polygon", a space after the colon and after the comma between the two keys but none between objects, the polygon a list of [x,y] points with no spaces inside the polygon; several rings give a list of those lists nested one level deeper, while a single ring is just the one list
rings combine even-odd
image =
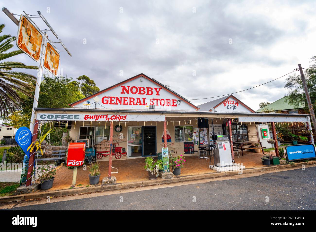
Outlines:
[{"label": "palm tree with long drooping green fronds at left edge", "polygon": [[[0,24],[0,33],[4,27],[5,24]],[[15,36],[0,35],[0,115],[3,117],[20,108],[23,102],[20,95],[31,97],[35,88],[35,76],[17,71],[16,68],[38,69],[22,62],[2,61],[23,53],[21,50],[6,52],[13,47],[15,39]]]}]

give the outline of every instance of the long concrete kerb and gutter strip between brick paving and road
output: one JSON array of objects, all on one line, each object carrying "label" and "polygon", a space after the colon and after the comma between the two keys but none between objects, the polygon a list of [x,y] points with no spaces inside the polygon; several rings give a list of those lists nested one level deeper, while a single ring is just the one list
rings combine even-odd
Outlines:
[{"label": "long concrete kerb and gutter strip between brick paving and road", "polygon": [[194,181],[194,180],[218,178],[218,177],[232,176],[232,175],[243,175],[243,174],[248,174],[248,173],[264,172],[264,171],[270,171],[270,170],[283,170],[283,169],[289,169],[292,167],[303,167],[304,165],[316,165],[316,161],[309,161],[308,163],[300,162],[300,163],[295,163],[294,165],[284,164],[284,165],[271,165],[271,166],[260,167],[260,168],[250,168],[250,169],[243,170],[242,173],[238,171],[215,172],[215,173],[208,173],[208,174],[175,177],[172,179],[156,179],[156,180],[146,180],[146,181],[137,181],[137,182],[129,182],[129,183],[111,184],[111,185],[96,185],[96,186],[79,187],[79,188],[76,187],[73,189],[62,189],[62,190],[56,190],[56,191],[37,191],[35,193],[26,193],[26,194],[15,195],[15,196],[0,197],[0,202],[23,201],[23,200],[29,200],[29,199],[43,199],[47,197],[51,198],[51,197],[69,196],[69,195],[77,195],[77,194],[113,191],[113,190],[126,189],[126,188],[145,187],[145,186],[161,185],[161,184],[176,183],[176,182],[183,182],[183,181]]}]

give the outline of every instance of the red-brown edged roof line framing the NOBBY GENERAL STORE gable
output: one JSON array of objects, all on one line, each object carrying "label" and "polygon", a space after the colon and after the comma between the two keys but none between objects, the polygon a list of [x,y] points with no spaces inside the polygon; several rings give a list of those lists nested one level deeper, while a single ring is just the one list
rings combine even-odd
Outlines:
[{"label": "red-brown edged roof line framing the NOBBY GENERAL STORE gable", "polygon": [[85,97],[85,98],[82,98],[82,99],[80,99],[80,100],[78,100],[78,101],[76,101],[76,102],[73,102],[73,103],[69,104],[69,105],[70,105],[71,107],[73,107],[73,106],[75,106],[75,105],[77,105],[77,104],[79,104],[79,103],[81,103],[81,102],[86,101],[87,99],[93,98],[94,96],[97,96],[97,95],[99,95],[99,94],[101,94],[101,93],[107,92],[107,91],[109,91],[109,90],[111,90],[111,89],[114,89],[114,88],[116,88],[116,87],[118,87],[118,86],[120,86],[120,85],[122,85],[122,84],[124,84],[124,83],[126,83],[126,82],[129,82],[129,81],[134,80],[134,79],[139,78],[139,77],[144,77],[144,78],[148,79],[149,81],[151,81],[151,82],[155,83],[156,85],[160,86],[162,89],[166,90],[167,92],[170,92],[170,93],[173,94],[174,96],[177,96],[180,100],[185,101],[187,104],[191,105],[193,108],[195,108],[195,109],[197,109],[197,110],[199,109],[196,105],[193,105],[189,100],[187,100],[186,98],[182,97],[180,94],[174,92],[174,91],[171,90],[170,88],[167,88],[165,85],[161,84],[159,81],[157,81],[157,80],[155,80],[155,79],[152,79],[152,78],[146,76],[146,75],[143,74],[143,73],[140,73],[140,74],[138,74],[138,75],[136,75],[136,76],[133,76],[133,77],[127,79],[127,80],[123,80],[123,81],[121,81],[121,82],[119,82],[119,83],[117,83],[117,84],[115,84],[115,85],[113,85],[113,86],[110,86],[110,87],[108,87],[108,88],[106,88],[106,89],[100,90],[99,92],[96,92],[96,93],[94,93],[94,94],[92,94],[92,95],[90,95],[90,96],[87,96],[87,97]]}]

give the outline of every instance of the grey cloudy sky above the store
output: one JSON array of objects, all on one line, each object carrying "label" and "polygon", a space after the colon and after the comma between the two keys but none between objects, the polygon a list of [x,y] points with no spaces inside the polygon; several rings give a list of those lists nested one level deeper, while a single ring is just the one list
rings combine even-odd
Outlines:
[{"label": "grey cloudy sky above the store", "polygon": [[[63,74],[87,75],[100,89],[144,73],[187,99],[214,97],[273,80],[298,63],[307,68],[316,55],[314,1],[0,3],[18,15],[40,10],[72,54],[61,51]],[[0,21],[4,33],[16,35],[17,26],[3,12]],[[15,60],[38,65],[24,54]],[[235,95],[258,110],[260,102],[286,94],[285,78]]]}]

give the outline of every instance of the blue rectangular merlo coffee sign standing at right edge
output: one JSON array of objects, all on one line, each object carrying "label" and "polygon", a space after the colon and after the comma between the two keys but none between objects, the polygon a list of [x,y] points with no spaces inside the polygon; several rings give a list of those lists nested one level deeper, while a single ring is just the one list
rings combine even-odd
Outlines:
[{"label": "blue rectangular merlo coffee sign standing at right edge", "polygon": [[286,146],[285,150],[288,161],[313,159],[316,154],[315,146],[313,144],[290,145]]}]

